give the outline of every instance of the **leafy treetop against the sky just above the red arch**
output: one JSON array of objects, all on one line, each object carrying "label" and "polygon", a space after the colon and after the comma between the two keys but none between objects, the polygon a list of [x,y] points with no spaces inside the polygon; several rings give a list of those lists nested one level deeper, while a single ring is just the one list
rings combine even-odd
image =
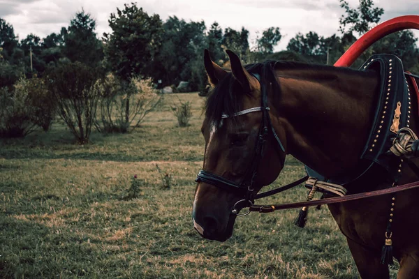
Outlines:
[{"label": "leafy treetop against the sky just above the red arch", "polygon": [[339,19],[339,30],[342,34],[348,32],[366,33],[373,24],[380,21],[383,15],[383,8],[374,8],[372,0],[360,0],[358,8],[350,8],[346,0],[339,0],[341,8],[345,9],[346,15],[341,15]]}]

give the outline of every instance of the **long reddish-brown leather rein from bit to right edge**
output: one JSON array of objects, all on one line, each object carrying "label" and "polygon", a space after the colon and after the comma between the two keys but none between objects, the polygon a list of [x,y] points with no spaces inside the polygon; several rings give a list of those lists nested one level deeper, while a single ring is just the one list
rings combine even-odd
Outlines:
[{"label": "long reddish-brown leather rein from bit to right edge", "polygon": [[401,192],[404,190],[411,190],[413,188],[418,188],[418,187],[419,187],[419,181],[415,181],[412,183],[406,183],[403,185],[386,188],[383,190],[376,190],[376,191],[367,192],[367,193],[347,195],[344,197],[329,197],[325,199],[312,200],[309,202],[295,202],[293,204],[271,204],[271,205],[255,204],[255,205],[249,206],[249,211],[257,211],[259,213],[269,213],[276,210],[297,209],[304,206],[308,207],[308,206],[317,206],[317,205],[322,205],[322,204],[336,204],[338,202],[348,202],[348,201],[353,201],[355,199],[365,199],[367,197],[377,197],[381,195],[387,195],[390,193],[397,193],[397,192]]}]

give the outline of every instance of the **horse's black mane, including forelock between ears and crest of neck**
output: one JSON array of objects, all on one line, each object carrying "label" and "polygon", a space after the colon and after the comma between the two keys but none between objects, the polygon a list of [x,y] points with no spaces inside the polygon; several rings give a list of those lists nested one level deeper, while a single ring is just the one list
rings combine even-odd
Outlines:
[{"label": "horse's black mane, including forelock between ears and crest of neck", "polygon": [[[264,84],[272,84],[268,90],[272,91],[273,103],[281,97],[281,87],[277,80],[275,70],[314,70],[318,73],[330,73],[333,71],[336,74],[360,74],[359,70],[350,68],[333,67],[326,65],[307,64],[296,61],[265,61],[263,63],[253,63],[244,66],[244,68],[251,74],[258,74],[260,82]],[[365,73],[368,75],[371,73]],[[361,74],[362,75],[362,74]],[[232,115],[235,112],[243,110],[242,98],[246,93],[243,92],[240,84],[235,80],[231,73],[228,73],[219,83],[210,91],[210,94],[205,103],[205,116],[209,123],[212,123],[215,128],[220,126],[221,115]],[[249,94],[249,93],[247,93]]]}]

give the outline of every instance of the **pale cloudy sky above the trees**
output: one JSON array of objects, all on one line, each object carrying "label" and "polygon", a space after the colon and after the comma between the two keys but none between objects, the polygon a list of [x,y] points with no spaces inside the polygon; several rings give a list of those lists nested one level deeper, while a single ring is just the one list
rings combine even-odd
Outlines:
[{"label": "pale cloudy sky above the trees", "polygon": [[[73,15],[82,10],[96,18],[97,33],[109,32],[108,18],[116,8],[135,0],[0,0],[0,17],[13,24],[20,39],[29,33],[41,38],[67,27]],[[323,36],[338,33],[343,9],[339,0],[138,0],[147,13],[157,13],[163,20],[171,15],[185,20],[205,20],[207,27],[219,22],[221,27],[247,28],[251,40],[267,27],[280,27],[283,39],[277,50],[286,48],[295,33],[316,31]],[[358,0],[349,0],[355,7]],[[418,0],[376,0],[384,8],[381,20],[399,15],[419,15]],[[416,32],[419,37],[419,32]]]}]

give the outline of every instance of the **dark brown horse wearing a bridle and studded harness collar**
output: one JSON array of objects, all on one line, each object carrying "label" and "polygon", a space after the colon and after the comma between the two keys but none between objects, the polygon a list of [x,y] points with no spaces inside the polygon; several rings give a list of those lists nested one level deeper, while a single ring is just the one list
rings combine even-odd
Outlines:
[{"label": "dark brown horse wearing a bridle and studded harness collar", "polygon": [[[231,70],[223,70],[211,61],[207,52],[205,55],[207,75],[214,86],[207,98],[202,126],[206,172],[235,183],[249,176],[263,112],[228,118],[222,114],[231,116],[260,107],[262,82],[267,86],[272,127],[285,152],[269,133],[257,165],[255,192],[277,179],[286,154],[325,177],[358,167],[374,121],[380,91],[378,73],[272,61],[243,67],[236,54],[228,51],[228,55]],[[256,76],[260,76],[261,82]],[[412,84],[409,87],[413,91]],[[416,97],[412,99],[411,111],[416,116]],[[418,133],[416,117],[410,122],[412,130]],[[399,184],[418,180],[405,165],[402,174]],[[346,188],[348,194],[353,194],[390,186],[385,170],[376,165]],[[380,264],[380,259],[391,197],[384,195],[329,205],[362,278],[389,278],[388,266]],[[419,278],[418,197],[416,189],[396,195],[392,242],[393,255],[400,263],[397,278]],[[233,206],[243,198],[240,191],[200,181],[193,201],[194,227],[207,239],[226,241],[233,234],[236,218]]]}]

